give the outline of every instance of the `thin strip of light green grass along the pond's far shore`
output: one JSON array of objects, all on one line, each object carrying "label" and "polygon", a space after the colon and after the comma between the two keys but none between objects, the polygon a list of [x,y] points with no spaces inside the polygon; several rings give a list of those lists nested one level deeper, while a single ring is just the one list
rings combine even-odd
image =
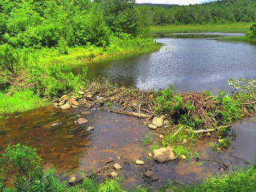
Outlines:
[{"label": "thin strip of light green grass along the pond's far shore", "polygon": [[251,23],[206,24],[183,26],[151,26],[154,32],[248,32]]}]

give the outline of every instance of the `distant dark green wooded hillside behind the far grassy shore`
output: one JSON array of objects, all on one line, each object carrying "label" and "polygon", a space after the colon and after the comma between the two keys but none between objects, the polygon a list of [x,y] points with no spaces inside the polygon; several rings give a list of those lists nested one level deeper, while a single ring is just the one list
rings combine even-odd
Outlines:
[{"label": "distant dark green wooded hillside behind the far grassy shore", "polygon": [[138,7],[148,12],[152,26],[256,21],[255,0],[223,0],[169,8],[148,5]]}]

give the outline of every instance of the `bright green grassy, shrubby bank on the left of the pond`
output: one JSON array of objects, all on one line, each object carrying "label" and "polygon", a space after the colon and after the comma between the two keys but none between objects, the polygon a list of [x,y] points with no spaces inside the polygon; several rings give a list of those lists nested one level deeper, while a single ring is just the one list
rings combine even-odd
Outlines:
[{"label": "bright green grassy, shrubby bank on the left of the pond", "polygon": [[[0,93],[2,101],[5,101],[5,105],[0,105],[0,114],[38,108],[47,105],[48,102],[44,99],[80,90],[87,84],[88,63],[160,49],[160,45],[152,38],[123,35],[122,38],[113,36],[110,39],[107,47],[64,47],[65,53],[59,47],[36,50],[14,49],[3,45],[2,53],[7,65],[0,75]],[[72,68],[78,65],[82,66],[82,72],[72,73]],[[15,72],[9,70],[12,68]],[[24,99],[28,92],[30,95],[34,94],[30,99]],[[16,99],[22,100],[23,104],[15,102]]]}]

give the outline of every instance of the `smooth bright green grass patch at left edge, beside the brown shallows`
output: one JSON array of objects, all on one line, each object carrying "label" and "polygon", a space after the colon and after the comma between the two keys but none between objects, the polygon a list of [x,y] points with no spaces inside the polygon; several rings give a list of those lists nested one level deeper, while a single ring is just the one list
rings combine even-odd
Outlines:
[{"label": "smooth bright green grass patch at left edge, beside the brown shallows", "polygon": [[0,114],[28,111],[49,104],[49,102],[36,96],[32,90],[18,91],[12,96],[0,93],[0,98]]}]

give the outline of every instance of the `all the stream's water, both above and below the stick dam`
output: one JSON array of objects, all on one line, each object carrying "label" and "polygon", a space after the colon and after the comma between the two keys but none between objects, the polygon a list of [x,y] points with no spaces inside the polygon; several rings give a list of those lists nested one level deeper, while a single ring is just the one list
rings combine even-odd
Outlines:
[{"label": "all the stream's water, both above and below the stick dam", "polygon": [[[227,79],[256,78],[256,46],[220,41],[212,36],[157,38],[156,41],[163,44],[157,52],[93,63],[89,67],[90,79],[101,76],[112,83],[144,90],[174,84],[180,91],[231,91]],[[49,106],[6,114],[0,117],[0,151],[17,143],[37,148],[44,163],[54,166],[62,180],[78,172],[99,169],[108,160],[114,160],[108,165],[120,163],[123,166],[118,171],[123,175],[123,186],[140,184],[151,189],[164,186],[169,180],[194,184],[216,172],[227,172],[255,160],[256,116],[233,124],[227,134],[231,145],[219,154],[211,147],[218,136],[211,136],[193,145],[200,155],[199,160],[155,163],[148,157],[151,146],[138,140],[148,133],[158,139],[161,128],[148,130],[137,117],[94,108],[81,113],[83,111],[84,107],[60,110]],[[88,122],[76,124],[78,115]],[[93,126],[94,130],[87,131],[87,126]],[[145,165],[136,165],[136,160],[145,161]],[[145,178],[145,171],[149,169],[159,181]]]}]

